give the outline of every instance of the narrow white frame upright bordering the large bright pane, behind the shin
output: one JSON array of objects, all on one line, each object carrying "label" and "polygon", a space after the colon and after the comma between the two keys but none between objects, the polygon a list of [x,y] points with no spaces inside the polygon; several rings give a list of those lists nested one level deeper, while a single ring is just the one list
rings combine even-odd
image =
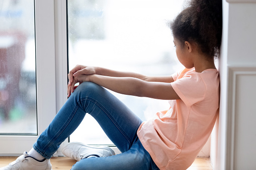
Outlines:
[{"label": "narrow white frame upright bordering the large bright pane, behind the shin", "polygon": [[[56,113],[67,100],[67,18],[66,1],[54,1],[55,19],[55,69],[56,69]],[[53,156],[63,156],[61,149],[66,139]]]}]

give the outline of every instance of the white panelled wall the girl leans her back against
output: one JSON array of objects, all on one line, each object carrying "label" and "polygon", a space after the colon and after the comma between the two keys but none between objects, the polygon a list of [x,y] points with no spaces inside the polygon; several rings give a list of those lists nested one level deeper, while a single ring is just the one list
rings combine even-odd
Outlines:
[{"label": "white panelled wall the girl leans her back against", "polygon": [[220,115],[213,139],[218,139],[218,147],[211,150],[214,169],[256,169],[255,30],[256,0],[223,1]]}]

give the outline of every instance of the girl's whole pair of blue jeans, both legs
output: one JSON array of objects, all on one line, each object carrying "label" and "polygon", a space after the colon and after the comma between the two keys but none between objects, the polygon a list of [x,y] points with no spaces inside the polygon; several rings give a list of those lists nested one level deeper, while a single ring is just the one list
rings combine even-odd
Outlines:
[{"label": "girl's whole pair of blue jeans, both legs", "polygon": [[122,153],[82,159],[73,165],[72,170],[158,169],[138,139],[137,129],[142,121],[109,91],[92,82],[83,82],[75,89],[39,136],[34,149],[49,159],[78,127],[86,113],[98,121]]}]

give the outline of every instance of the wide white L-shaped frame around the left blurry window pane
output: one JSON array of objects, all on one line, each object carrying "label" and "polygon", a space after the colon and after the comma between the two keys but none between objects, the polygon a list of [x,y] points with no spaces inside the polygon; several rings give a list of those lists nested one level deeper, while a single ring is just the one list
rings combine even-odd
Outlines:
[{"label": "wide white L-shaped frame around the left blurry window pane", "polygon": [[56,114],[54,2],[35,0],[37,135],[0,135],[0,156],[29,151]]}]

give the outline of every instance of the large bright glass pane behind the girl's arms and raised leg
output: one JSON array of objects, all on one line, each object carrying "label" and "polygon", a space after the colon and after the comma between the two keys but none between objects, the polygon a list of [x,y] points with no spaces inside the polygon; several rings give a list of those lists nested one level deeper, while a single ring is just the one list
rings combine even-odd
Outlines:
[{"label": "large bright glass pane behind the girl's arms and raised leg", "polygon": [[[183,1],[169,0],[69,0],[69,69],[82,64],[145,75],[173,74],[182,65],[166,23],[180,12],[177,9],[182,4]],[[168,109],[167,101],[115,95],[142,120]],[[70,141],[111,144],[91,119],[87,114]]]}]

